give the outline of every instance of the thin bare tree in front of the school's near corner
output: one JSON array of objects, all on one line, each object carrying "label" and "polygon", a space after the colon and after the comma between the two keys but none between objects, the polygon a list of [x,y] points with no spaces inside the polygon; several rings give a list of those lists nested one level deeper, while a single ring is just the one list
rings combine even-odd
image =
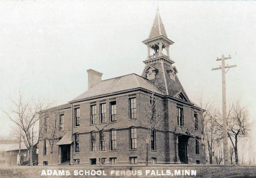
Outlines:
[{"label": "thin bare tree in front of the school's near corner", "polygon": [[160,106],[160,98],[156,96],[155,92],[148,92],[148,102],[146,102],[145,108],[142,110],[145,120],[143,121],[147,129],[146,138],[146,165],[148,165],[148,155],[149,155],[149,143],[154,137],[153,133],[159,128],[162,122],[162,116],[167,112],[167,110],[162,109]]}]

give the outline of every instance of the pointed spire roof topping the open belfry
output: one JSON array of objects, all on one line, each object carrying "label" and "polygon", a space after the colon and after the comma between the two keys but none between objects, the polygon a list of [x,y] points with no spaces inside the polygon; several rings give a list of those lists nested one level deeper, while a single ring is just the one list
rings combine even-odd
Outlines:
[{"label": "pointed spire roof topping the open belfry", "polygon": [[159,37],[160,35],[163,35],[164,37],[167,38],[167,35],[165,32],[165,27],[164,27],[164,24],[162,23],[162,20],[161,20],[160,14],[159,14],[159,9],[157,9],[156,15],[155,15],[155,20],[154,20],[153,26],[151,28],[148,39]]}]

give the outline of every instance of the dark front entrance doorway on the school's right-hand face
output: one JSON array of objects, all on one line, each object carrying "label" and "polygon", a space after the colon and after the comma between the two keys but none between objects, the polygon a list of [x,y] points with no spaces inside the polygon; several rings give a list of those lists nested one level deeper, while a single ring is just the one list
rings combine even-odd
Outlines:
[{"label": "dark front entrance doorway on the school's right-hand face", "polygon": [[179,161],[188,163],[188,138],[184,136],[178,138],[178,155]]}]

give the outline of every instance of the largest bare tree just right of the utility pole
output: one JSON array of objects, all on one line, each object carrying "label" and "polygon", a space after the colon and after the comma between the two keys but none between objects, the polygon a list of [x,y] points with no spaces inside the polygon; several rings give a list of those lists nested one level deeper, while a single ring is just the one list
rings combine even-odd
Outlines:
[{"label": "largest bare tree just right of the utility pole", "polygon": [[[242,108],[240,103],[237,101],[229,107],[229,112],[227,116],[227,125],[228,125],[228,137],[231,141],[232,147],[235,152],[235,161],[236,164],[239,164],[238,160],[238,151],[237,151],[237,143],[238,139],[244,137],[248,132],[247,126],[247,118],[248,112],[246,108]],[[220,120],[221,116],[216,123],[220,130],[222,130],[222,122]]]}]

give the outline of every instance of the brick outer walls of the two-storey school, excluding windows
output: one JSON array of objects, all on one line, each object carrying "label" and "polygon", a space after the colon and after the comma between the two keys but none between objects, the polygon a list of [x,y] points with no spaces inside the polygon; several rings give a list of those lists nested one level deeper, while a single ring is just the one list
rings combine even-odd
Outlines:
[{"label": "brick outer walls of the two-storey school, excluding windows", "polygon": [[[129,98],[136,97],[137,118],[130,120],[129,117]],[[109,102],[115,101],[117,104],[116,122],[110,122],[110,109]],[[100,104],[106,103],[106,123],[100,124]],[[96,104],[96,124],[90,123],[90,106]],[[182,103],[180,103],[182,104]],[[146,162],[146,138],[147,130],[149,127],[147,123],[147,110],[149,105],[149,96],[141,91],[131,93],[119,94],[116,96],[109,96],[98,99],[91,99],[83,102],[73,104],[73,109],[80,108],[80,126],[72,127],[72,134],[79,134],[79,153],[74,153],[74,144],[72,144],[72,161],[79,159],[80,164],[90,164],[90,158],[96,158],[99,164],[100,158],[106,158],[106,164],[109,164],[110,157],[117,157],[118,164],[128,164],[129,157],[137,157],[138,163]],[[156,102],[156,110],[159,113],[159,126],[156,130],[156,151],[149,151],[149,162],[151,158],[157,158],[158,163],[174,163],[175,158],[175,144],[174,144],[174,131],[177,126],[177,102],[171,99],[159,98]],[[59,136],[63,136],[68,130],[71,129],[71,109],[61,111],[64,114],[64,132],[59,132]],[[183,104],[184,112],[184,126],[191,127],[190,119],[194,118],[194,109],[187,104]],[[73,118],[74,119],[74,116]],[[58,123],[59,124],[59,123]],[[107,124],[107,126],[106,126]],[[106,126],[106,127],[104,127]],[[42,123],[40,124],[42,127]],[[100,150],[99,135],[96,133],[96,150],[90,151],[90,133],[97,132],[98,129],[106,131],[106,151]],[[130,150],[129,128],[137,128],[137,150]],[[110,134],[109,130],[117,130],[117,150],[110,150]],[[73,137],[74,139],[74,137]],[[188,141],[188,161],[195,163],[200,160],[203,163],[202,148],[200,145],[200,155],[195,155],[195,139],[190,138]],[[149,145],[150,148],[150,145]],[[49,147],[50,149],[50,147]],[[49,150],[50,153],[50,150]],[[43,156],[43,140],[39,141],[39,165],[43,161],[48,161],[50,165],[50,154]],[[60,163],[60,150],[59,146],[54,146],[53,164]]]}]

